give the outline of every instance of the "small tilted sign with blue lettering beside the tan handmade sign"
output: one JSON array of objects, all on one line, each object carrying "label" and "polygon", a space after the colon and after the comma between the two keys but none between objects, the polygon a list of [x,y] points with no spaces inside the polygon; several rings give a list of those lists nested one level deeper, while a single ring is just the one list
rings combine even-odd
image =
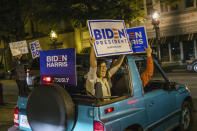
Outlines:
[{"label": "small tilted sign with blue lettering beside the tan handmade sign", "polygon": [[40,57],[39,51],[41,50],[41,47],[40,47],[39,41],[36,40],[34,42],[29,43],[29,45],[30,45],[32,58],[35,59],[36,57]]}]

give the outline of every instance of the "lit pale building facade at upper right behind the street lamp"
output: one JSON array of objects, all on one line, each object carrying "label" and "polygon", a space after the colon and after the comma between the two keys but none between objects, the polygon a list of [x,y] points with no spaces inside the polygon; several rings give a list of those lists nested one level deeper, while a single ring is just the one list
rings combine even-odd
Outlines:
[{"label": "lit pale building facade at upper right behind the street lamp", "polygon": [[149,43],[156,45],[152,14],[159,12],[159,53],[162,62],[184,62],[197,59],[197,0],[182,0],[169,6],[155,0],[144,0],[146,32]]}]

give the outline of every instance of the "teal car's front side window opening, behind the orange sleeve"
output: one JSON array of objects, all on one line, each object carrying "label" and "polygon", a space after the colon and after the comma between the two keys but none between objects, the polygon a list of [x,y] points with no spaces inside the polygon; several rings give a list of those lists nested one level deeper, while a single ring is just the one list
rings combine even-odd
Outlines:
[{"label": "teal car's front side window opening, behind the orange sleeve", "polygon": [[[146,59],[136,61],[136,65],[139,73],[143,73],[146,69]],[[161,74],[161,71],[154,63],[153,76],[151,77],[148,84],[144,87],[144,92],[147,93],[154,90],[163,89],[166,86],[166,83],[167,81],[164,79],[163,75]]]}]

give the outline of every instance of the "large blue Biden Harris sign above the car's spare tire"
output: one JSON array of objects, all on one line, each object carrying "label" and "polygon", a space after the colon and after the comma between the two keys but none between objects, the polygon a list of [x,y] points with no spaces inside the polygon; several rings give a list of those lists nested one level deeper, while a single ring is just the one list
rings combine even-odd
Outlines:
[{"label": "large blue Biden Harris sign above the car's spare tire", "polygon": [[40,75],[62,85],[76,86],[75,49],[40,51]]}]

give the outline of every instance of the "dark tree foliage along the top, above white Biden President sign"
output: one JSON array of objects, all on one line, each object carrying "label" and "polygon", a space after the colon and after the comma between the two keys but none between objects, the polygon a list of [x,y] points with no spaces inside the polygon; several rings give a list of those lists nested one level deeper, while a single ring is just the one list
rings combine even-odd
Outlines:
[{"label": "dark tree foliage along the top, above white Biden President sign", "polygon": [[[129,23],[143,20],[142,0],[36,0],[34,19],[57,26],[61,20],[74,27],[89,19],[123,19]],[[44,17],[43,17],[44,16]],[[55,24],[56,23],[56,24]]]}]

